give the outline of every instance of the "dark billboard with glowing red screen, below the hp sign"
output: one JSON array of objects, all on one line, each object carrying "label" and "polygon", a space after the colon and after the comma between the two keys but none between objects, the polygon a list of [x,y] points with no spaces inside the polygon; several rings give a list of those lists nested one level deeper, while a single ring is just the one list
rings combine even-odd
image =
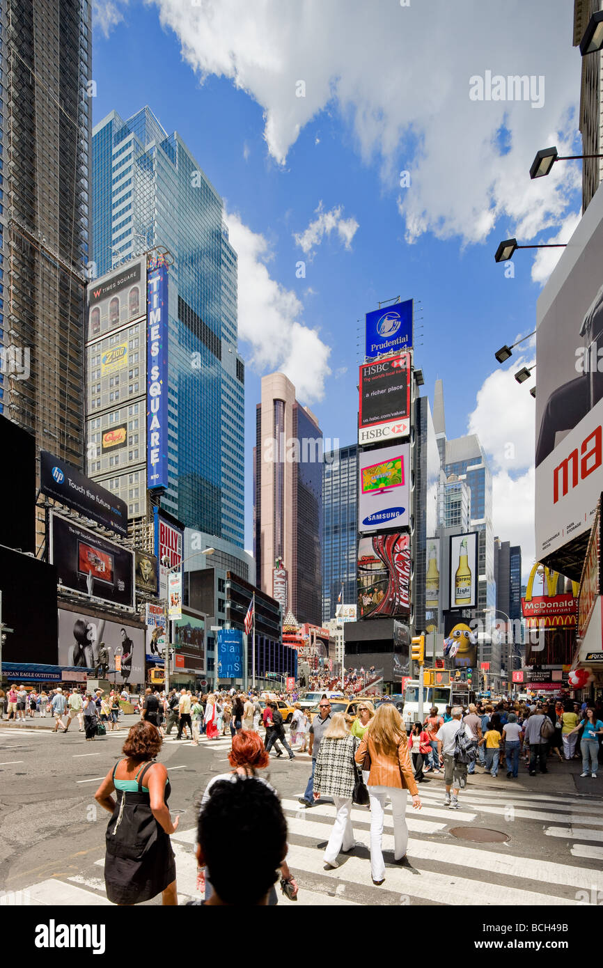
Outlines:
[{"label": "dark billboard with glowing red screen, below the hp sign", "polygon": [[59,585],[134,608],[134,555],[50,512],[50,561]]}]

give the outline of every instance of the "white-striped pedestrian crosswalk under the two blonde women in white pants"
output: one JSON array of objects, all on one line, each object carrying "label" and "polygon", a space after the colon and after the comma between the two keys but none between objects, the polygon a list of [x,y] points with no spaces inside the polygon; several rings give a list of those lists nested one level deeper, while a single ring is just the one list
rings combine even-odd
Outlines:
[{"label": "white-striped pedestrian crosswalk under the two blonde women in white pants", "polygon": [[[212,743],[229,744],[229,739]],[[301,792],[301,791],[300,791]],[[372,883],[370,811],[351,811],[357,846],[340,856],[340,866],[325,870],[323,854],[334,807],[319,802],[306,810],[291,797],[282,800],[288,827],[287,862],[299,884],[297,906],[377,904],[575,905],[584,887],[603,891],[603,816],[598,801],[580,796],[546,796],[512,788],[461,792],[461,808],[443,805],[441,785],[421,789],[421,811],[408,802],[410,867],[393,863],[393,818],[385,810],[382,849],[385,883]],[[457,837],[451,828],[489,828],[506,833],[506,843],[480,844]],[[520,835],[521,832],[521,835]],[[544,847],[554,860],[544,860]],[[198,899],[196,827],[173,834],[180,903]],[[565,841],[565,844],[563,844]],[[528,846],[527,846],[528,845]],[[25,903],[37,905],[106,905],[104,860],[90,862],[80,873],[49,878],[22,889]],[[158,899],[151,903],[157,903]],[[0,895],[0,904],[10,904]],[[23,903],[20,900],[19,903]],[[281,904],[289,904],[285,898]]]}]

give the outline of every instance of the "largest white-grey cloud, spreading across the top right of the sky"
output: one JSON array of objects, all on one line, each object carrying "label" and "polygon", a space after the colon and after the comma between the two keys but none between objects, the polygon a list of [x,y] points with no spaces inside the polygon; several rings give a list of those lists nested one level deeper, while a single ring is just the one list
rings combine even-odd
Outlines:
[{"label": "largest white-grey cloud, spreading across the top right of the sky", "polygon": [[[528,167],[549,144],[574,153],[564,149],[577,131],[581,59],[565,0],[550,0],[546,16],[525,0],[507,0],[502,15],[483,0],[465,0],[461,14],[450,0],[146,2],[159,7],[198,76],[226,76],[262,106],[278,165],[328,109],[339,111],[389,190],[410,171],[399,201],[408,241],[431,230],[477,242],[498,220],[531,239],[564,217],[578,166],[560,163],[536,181]],[[469,78],[486,71],[543,76],[544,105],[471,101]]]}]

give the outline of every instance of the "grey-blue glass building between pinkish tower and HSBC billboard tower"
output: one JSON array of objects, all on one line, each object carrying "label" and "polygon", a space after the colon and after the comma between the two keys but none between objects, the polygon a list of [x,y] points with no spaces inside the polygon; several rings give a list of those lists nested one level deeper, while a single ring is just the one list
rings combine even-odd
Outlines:
[{"label": "grey-blue glass building between pinkish tower and HSBC billboard tower", "polygon": [[338,602],[356,601],[358,447],[324,455],[322,465],[322,624],[334,619]]}]

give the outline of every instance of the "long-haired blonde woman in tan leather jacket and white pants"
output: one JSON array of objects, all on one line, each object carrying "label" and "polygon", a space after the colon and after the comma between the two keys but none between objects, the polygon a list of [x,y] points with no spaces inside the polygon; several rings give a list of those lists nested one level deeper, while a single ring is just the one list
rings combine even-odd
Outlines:
[{"label": "long-haired blonde woman in tan leather jacket and white pants", "polygon": [[407,856],[407,791],[412,805],[421,809],[410,757],[407,731],[395,706],[379,706],[356,751],[356,763],[366,770],[370,759],[369,797],[371,800],[371,873],[374,884],[385,880],[385,864],[381,852],[383,839],[383,809],[386,800],[392,804],[394,820],[394,859],[405,861]]}]

